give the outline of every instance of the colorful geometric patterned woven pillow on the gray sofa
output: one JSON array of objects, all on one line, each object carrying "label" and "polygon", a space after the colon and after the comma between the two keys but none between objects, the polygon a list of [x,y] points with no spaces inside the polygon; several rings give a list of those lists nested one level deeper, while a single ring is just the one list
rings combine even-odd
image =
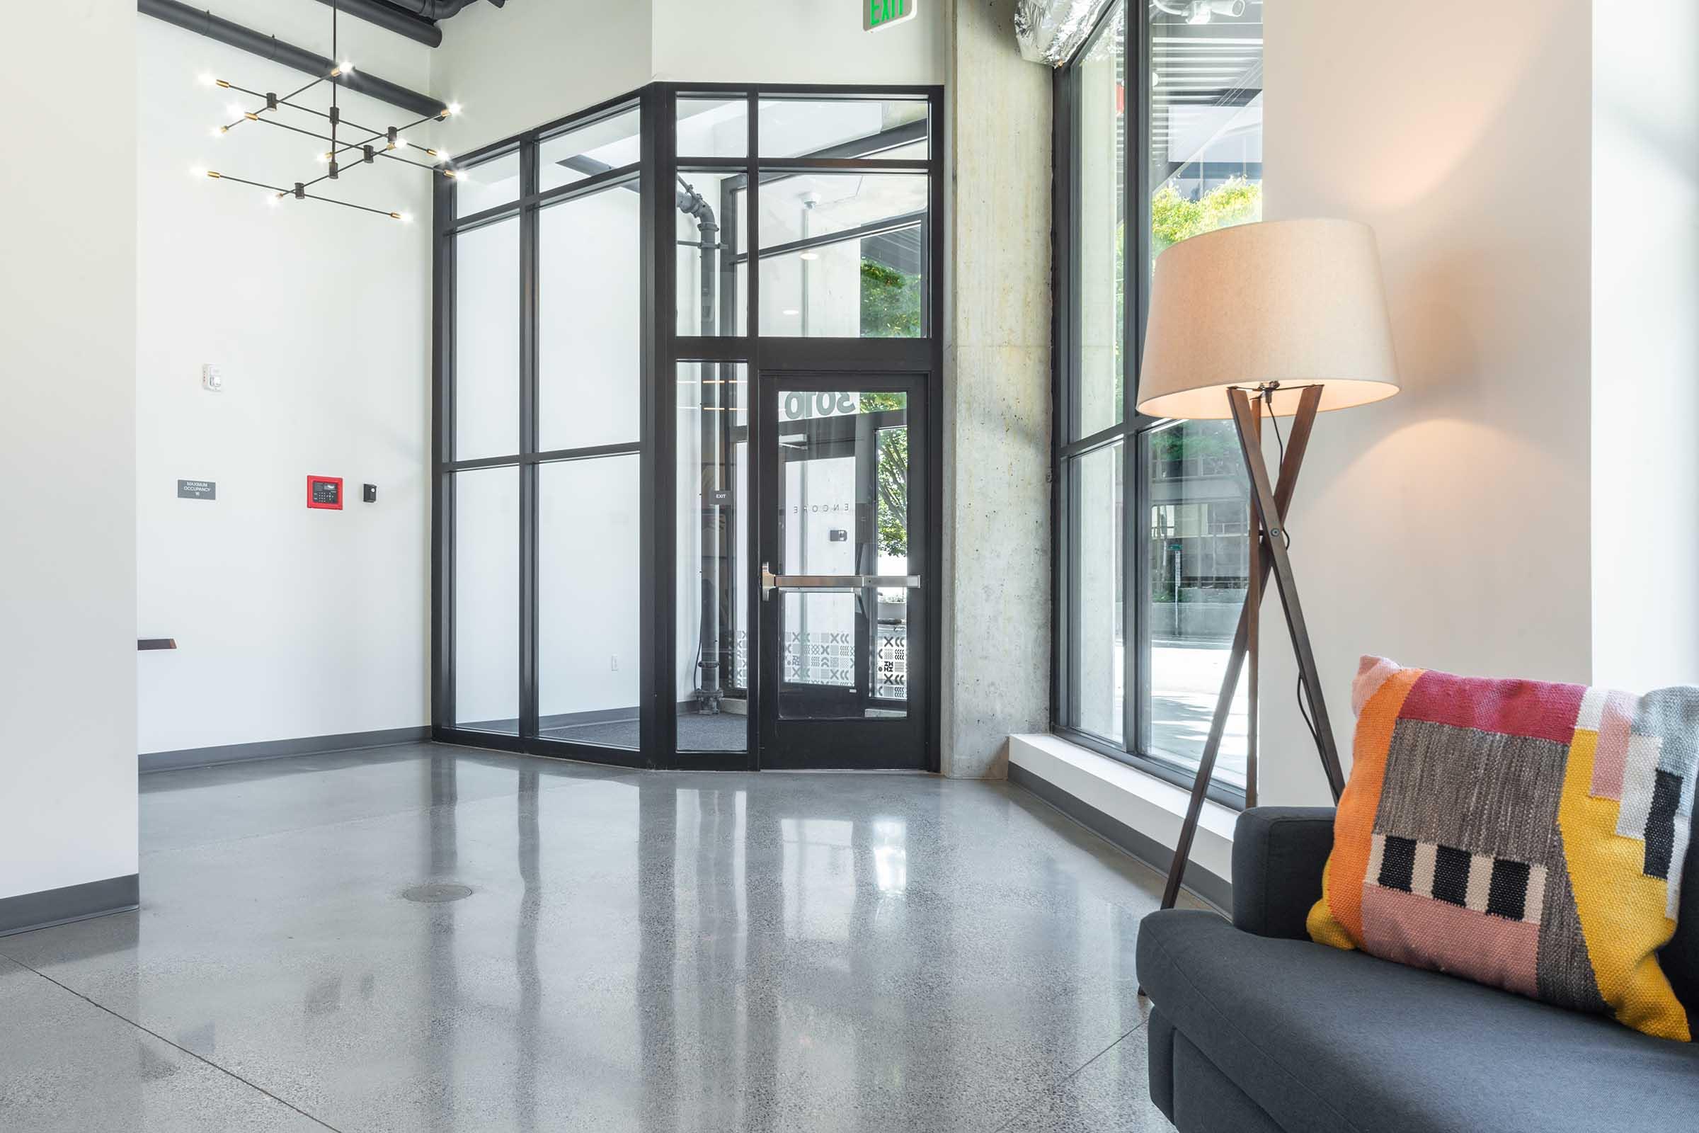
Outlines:
[{"label": "colorful geometric patterned woven pillow on the gray sofa", "polygon": [[1310,938],[1691,1041],[1675,933],[1699,688],[1645,696],[1363,657]]}]

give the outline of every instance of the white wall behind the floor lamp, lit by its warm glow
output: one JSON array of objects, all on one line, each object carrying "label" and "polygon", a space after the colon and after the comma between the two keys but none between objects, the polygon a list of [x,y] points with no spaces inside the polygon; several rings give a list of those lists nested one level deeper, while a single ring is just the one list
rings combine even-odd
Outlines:
[{"label": "white wall behind the floor lamp, lit by its warm glow", "polygon": [[[1374,226],[1403,374],[1317,421],[1290,516],[1349,763],[1361,652],[1592,676],[1592,5],[1281,0],[1266,34],[1264,214]],[[1325,802],[1273,595],[1262,627],[1261,798]]]}]

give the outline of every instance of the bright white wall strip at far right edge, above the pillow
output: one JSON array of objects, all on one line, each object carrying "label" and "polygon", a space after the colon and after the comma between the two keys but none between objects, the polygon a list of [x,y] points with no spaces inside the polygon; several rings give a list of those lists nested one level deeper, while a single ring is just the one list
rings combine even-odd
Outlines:
[{"label": "bright white wall strip at far right edge, above the pillow", "polygon": [[1640,691],[1699,683],[1699,5],[1595,5],[1592,95],[1594,679]]}]

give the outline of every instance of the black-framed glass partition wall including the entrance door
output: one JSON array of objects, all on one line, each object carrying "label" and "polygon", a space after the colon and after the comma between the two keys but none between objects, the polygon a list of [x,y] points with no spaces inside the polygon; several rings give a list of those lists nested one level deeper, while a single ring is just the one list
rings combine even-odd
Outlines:
[{"label": "black-framed glass partition wall including the entrance door", "polygon": [[437,739],[936,769],[940,109],[652,83],[440,180]]}]

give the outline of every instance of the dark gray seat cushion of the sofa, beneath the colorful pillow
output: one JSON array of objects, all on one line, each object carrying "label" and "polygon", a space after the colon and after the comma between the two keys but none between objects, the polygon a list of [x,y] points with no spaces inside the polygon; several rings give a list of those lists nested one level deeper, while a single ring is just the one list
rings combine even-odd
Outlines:
[{"label": "dark gray seat cushion of the sofa, beneath the colorful pillow", "polygon": [[1169,909],[1138,980],[1211,1063],[1303,1133],[1699,1128],[1699,1045]]}]

